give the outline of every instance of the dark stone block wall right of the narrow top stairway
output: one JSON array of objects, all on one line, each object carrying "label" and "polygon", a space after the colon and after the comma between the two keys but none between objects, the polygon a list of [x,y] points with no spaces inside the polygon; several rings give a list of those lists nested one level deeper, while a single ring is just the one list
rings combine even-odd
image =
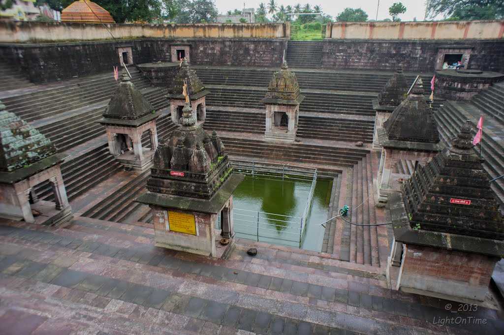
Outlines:
[{"label": "dark stone block wall right of the narrow top stairway", "polygon": [[[446,49],[470,49],[469,69],[504,72],[500,40],[324,40],[322,67],[432,73]],[[463,53],[463,52],[461,52]]]}]

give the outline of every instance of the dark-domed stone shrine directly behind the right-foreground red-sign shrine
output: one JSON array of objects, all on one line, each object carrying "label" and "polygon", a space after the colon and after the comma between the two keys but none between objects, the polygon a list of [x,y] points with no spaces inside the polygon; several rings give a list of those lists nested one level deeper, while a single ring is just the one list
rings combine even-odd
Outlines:
[{"label": "dark-domed stone shrine directly behind the right-foreground red-sign shrine", "polygon": [[377,129],[377,136],[383,147],[378,170],[378,200],[386,203],[388,192],[399,189],[396,179],[407,177],[393,176],[395,164],[400,160],[428,162],[442,149],[434,115],[423,96],[420,77],[413,84],[408,97],[384,122],[384,128]]}]

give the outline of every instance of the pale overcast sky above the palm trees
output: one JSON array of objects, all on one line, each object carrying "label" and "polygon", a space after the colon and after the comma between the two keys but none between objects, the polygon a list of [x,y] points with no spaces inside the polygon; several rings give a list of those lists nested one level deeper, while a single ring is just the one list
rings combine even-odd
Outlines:
[{"label": "pale overcast sky above the palm trees", "polygon": [[[322,7],[324,13],[331,15],[333,18],[338,15],[338,13],[342,12],[345,8],[362,8],[364,12],[369,16],[368,19],[374,20],[376,18],[376,7],[378,5],[377,0],[352,0],[352,1],[338,1],[338,0],[318,0],[318,1],[291,1],[291,0],[276,0],[278,6],[280,5],[291,5],[294,6],[297,3],[304,5],[306,3],[310,4],[311,7],[314,5],[319,5]],[[418,21],[423,21],[425,17],[425,0],[380,0],[380,9],[378,10],[378,20],[383,19],[391,19],[389,15],[389,7],[395,3],[400,1],[406,6],[406,13],[401,14],[399,17],[402,21],[413,21],[413,18],[416,17]],[[229,10],[233,10],[235,8],[242,9],[243,8],[243,0],[215,0],[217,5],[217,9],[221,13],[226,13]],[[267,0],[245,0],[245,8],[258,8],[260,3],[268,4]]]}]

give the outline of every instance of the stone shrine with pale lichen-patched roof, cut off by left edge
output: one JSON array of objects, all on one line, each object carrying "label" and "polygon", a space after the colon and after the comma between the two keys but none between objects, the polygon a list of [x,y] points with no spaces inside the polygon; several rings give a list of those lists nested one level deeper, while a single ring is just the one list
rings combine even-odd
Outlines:
[{"label": "stone shrine with pale lichen-patched roof, cut off by left edge", "polygon": [[[65,155],[0,101],[0,216],[61,225],[72,218],[61,163]],[[49,181],[55,202],[39,200],[34,187]],[[36,217],[34,217],[36,213]]]}]

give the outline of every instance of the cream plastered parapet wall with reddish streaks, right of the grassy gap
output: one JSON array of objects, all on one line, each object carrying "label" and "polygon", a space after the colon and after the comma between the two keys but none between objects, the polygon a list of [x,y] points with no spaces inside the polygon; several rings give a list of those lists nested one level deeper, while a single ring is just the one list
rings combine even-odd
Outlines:
[{"label": "cream plastered parapet wall with reddish streaks, right of the grassy gap", "polygon": [[504,20],[448,22],[333,22],[326,38],[334,39],[501,39]]}]

